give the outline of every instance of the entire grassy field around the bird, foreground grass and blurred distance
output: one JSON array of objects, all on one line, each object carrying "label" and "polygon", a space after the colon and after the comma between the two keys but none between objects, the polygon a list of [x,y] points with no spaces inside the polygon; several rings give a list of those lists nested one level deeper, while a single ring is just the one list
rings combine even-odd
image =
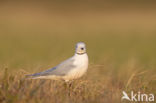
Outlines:
[{"label": "entire grassy field around the bird, foreground grass and blurred distance", "polygon": [[[130,103],[122,91],[156,95],[154,3],[80,4],[1,2],[0,103]],[[82,78],[25,78],[74,55],[79,41],[89,56]]]}]

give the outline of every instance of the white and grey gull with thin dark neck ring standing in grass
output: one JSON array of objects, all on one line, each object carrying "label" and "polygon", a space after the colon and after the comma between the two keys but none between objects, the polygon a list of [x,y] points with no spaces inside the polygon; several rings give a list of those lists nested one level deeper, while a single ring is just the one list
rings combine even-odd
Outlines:
[{"label": "white and grey gull with thin dark neck ring standing in grass", "polygon": [[86,46],[83,42],[79,42],[76,44],[74,56],[54,68],[28,76],[31,76],[32,79],[63,79],[69,81],[82,77],[87,68],[88,55],[86,53]]}]

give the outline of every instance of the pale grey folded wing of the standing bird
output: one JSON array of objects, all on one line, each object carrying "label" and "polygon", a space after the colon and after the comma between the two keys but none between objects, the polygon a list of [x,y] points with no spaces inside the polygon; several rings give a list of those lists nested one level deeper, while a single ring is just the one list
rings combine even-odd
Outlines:
[{"label": "pale grey folded wing of the standing bird", "polygon": [[48,76],[48,75],[63,76],[63,75],[66,75],[70,70],[74,69],[74,67],[76,67],[73,64],[73,62],[74,62],[74,59],[70,58],[52,69],[49,69],[40,73],[35,73],[35,74],[32,74],[31,76]]}]

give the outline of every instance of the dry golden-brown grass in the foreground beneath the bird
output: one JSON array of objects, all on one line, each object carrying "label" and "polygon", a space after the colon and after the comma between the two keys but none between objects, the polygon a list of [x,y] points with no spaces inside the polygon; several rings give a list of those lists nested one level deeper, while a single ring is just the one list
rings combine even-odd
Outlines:
[{"label": "dry golden-brown grass in the foreground beneath the bird", "polygon": [[134,61],[129,61],[115,72],[110,64],[90,65],[83,78],[71,83],[29,80],[24,77],[26,71],[8,73],[6,68],[0,78],[0,101],[2,103],[120,103],[123,90],[155,94],[155,70],[152,68],[143,70],[140,66]]}]

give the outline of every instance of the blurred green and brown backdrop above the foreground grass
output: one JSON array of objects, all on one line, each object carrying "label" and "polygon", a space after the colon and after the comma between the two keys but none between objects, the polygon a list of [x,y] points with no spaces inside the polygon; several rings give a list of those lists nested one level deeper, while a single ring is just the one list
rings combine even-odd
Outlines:
[{"label": "blurred green and brown backdrop above the foreground grass", "polygon": [[156,65],[154,0],[1,0],[0,66],[48,68],[87,45],[90,64]]}]

